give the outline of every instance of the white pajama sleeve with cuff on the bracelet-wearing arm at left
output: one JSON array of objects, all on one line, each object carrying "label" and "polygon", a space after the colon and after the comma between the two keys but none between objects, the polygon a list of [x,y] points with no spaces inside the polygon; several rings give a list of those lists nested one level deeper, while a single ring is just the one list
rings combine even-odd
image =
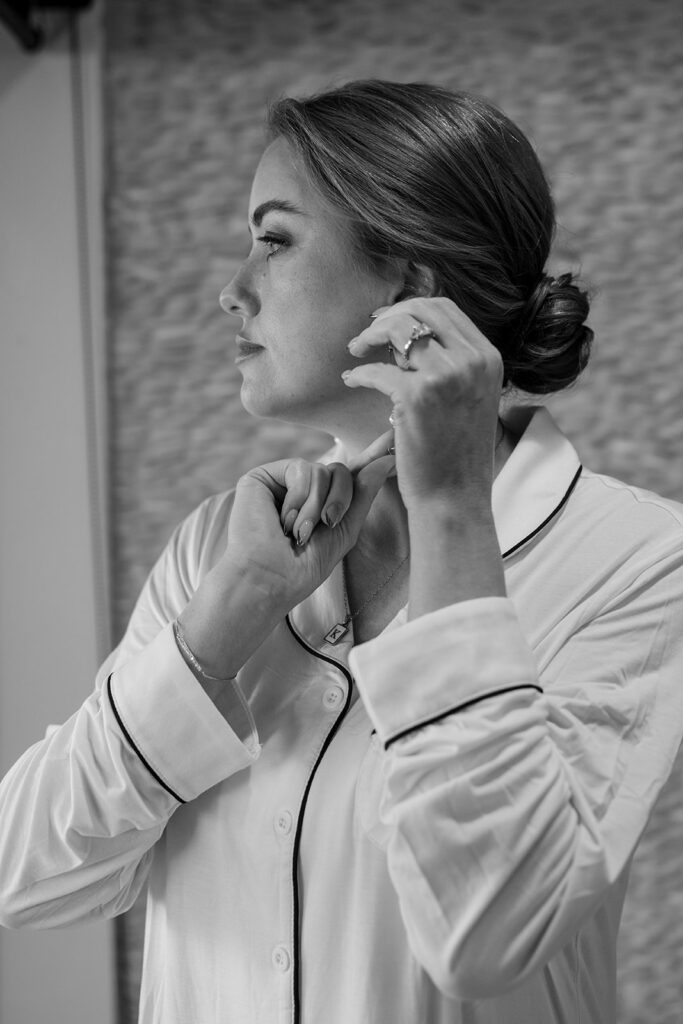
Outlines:
[{"label": "white pajama sleeve with cuff on the bracelet-wearing arm at left", "polygon": [[197,682],[170,625],[211,557],[216,501],[175,531],[92,694],[0,785],[5,927],[127,909],[171,815],[258,756],[256,737],[243,742]]}]

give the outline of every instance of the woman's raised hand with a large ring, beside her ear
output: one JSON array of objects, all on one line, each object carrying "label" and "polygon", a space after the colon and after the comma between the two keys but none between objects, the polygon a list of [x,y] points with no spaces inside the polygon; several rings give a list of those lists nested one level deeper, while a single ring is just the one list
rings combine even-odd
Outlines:
[{"label": "woman's raised hand with a large ring, beside her ear", "polygon": [[416,341],[405,369],[365,362],[342,376],[348,387],[372,387],[393,402],[396,473],[410,511],[434,502],[490,503],[503,360],[472,321],[446,298],[405,299],[381,310],[349,342],[368,357],[403,348],[416,327],[433,337]]}]

